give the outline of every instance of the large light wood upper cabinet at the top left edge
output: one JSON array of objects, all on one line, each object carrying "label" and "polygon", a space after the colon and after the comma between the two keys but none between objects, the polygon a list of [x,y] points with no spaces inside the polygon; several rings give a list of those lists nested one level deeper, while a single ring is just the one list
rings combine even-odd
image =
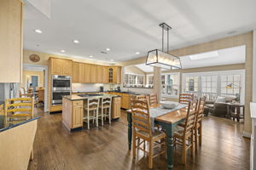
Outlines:
[{"label": "large light wood upper cabinet at the top left edge", "polygon": [[0,82],[21,82],[23,3],[1,0],[0,4]]}]

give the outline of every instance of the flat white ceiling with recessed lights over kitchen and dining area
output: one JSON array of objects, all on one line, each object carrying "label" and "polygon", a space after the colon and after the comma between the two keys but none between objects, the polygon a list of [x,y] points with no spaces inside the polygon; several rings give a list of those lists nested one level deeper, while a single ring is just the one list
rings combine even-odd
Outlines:
[{"label": "flat white ceiling with recessed lights over kitchen and dining area", "polygon": [[[255,0],[52,0],[48,6],[44,15],[26,1],[24,48],[50,54],[65,49],[62,55],[102,61],[135,59],[160,48],[161,22],[173,28],[170,49],[256,28]],[[106,48],[111,50],[102,54]]]}]

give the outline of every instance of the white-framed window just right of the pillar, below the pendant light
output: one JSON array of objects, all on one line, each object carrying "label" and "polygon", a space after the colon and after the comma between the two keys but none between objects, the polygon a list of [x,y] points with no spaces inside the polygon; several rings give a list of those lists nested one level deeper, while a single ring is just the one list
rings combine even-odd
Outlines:
[{"label": "white-framed window just right of the pillar, below the pendant light", "polygon": [[179,94],[179,73],[161,75],[162,95],[177,97]]}]

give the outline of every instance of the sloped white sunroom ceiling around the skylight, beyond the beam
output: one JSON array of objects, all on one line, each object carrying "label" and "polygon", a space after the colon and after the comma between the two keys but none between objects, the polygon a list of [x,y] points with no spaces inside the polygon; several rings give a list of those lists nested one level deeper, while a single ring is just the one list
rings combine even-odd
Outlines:
[{"label": "sloped white sunroom ceiling around the skylight, beyond the beam", "polygon": [[[209,57],[204,59],[190,59],[191,55],[186,55],[180,57],[181,64],[183,69],[189,68],[198,68],[198,67],[206,67],[206,66],[216,66],[216,65],[232,65],[245,63],[246,59],[246,47],[245,46],[237,46],[234,48],[224,48],[212,52],[218,52],[217,57]],[[145,64],[136,65],[137,68],[141,69],[144,72],[153,72],[154,69],[152,66],[148,66]]]}]

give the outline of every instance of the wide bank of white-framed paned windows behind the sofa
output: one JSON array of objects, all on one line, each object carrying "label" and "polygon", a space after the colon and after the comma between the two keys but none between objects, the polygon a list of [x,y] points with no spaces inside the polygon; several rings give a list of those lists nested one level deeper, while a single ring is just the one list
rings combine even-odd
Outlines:
[{"label": "wide bank of white-framed paned windows behind the sofa", "polygon": [[[183,74],[183,93],[206,96],[216,99],[217,96],[239,96],[244,101],[245,71],[214,71]],[[230,88],[227,88],[230,85]]]}]

